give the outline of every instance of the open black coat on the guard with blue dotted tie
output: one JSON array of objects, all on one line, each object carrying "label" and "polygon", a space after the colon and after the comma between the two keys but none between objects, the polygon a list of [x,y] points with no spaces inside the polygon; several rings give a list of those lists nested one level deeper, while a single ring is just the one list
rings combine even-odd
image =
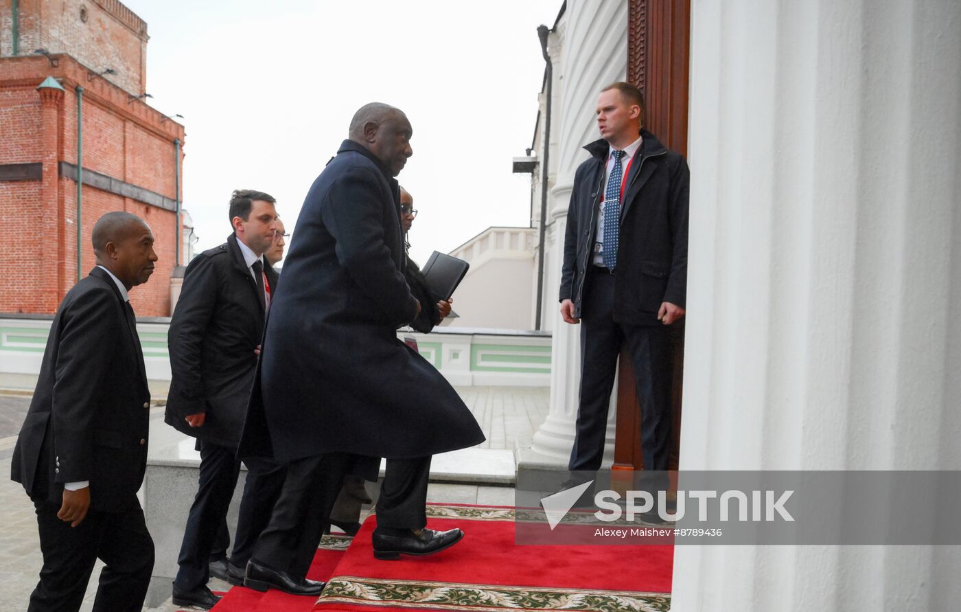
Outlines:
[{"label": "open black coat on the guard with blue dotted tie", "polygon": [[[614,320],[632,325],[661,325],[662,302],[681,308],[687,300],[687,218],[690,172],[684,158],[641,130],[621,205],[614,275]],[[567,212],[560,301],[574,302],[581,315],[584,278],[593,256],[604,166],[609,145],[596,140],[584,147],[591,158],[578,167]]]}]

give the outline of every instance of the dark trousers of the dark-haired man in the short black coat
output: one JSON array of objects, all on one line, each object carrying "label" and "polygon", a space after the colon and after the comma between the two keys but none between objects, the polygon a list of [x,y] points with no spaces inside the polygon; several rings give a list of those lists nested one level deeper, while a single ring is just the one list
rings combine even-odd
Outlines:
[{"label": "dark trousers of the dark-haired man in the short black coat", "polygon": [[[247,463],[247,469],[234,553],[249,558],[280,495],[284,469],[267,460],[252,460]],[[239,473],[240,461],[234,456],[234,448],[200,442],[197,496],[187,515],[184,542],[177,559],[180,568],[174,579],[179,591],[192,591],[207,584],[211,556],[215,556],[215,550],[227,547],[227,511]],[[246,559],[235,565],[246,565]]]}]

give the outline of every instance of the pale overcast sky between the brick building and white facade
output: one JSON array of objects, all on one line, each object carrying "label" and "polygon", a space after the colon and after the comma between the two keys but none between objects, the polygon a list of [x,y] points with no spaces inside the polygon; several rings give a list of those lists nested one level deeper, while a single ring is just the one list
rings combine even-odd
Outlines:
[{"label": "pale overcast sky between the brick building and white facade", "polygon": [[422,264],[492,225],[530,224],[544,60],[561,0],[123,0],[147,22],[148,103],[184,115],[184,207],[198,249],[231,232],[230,193],[267,191],[288,231],[351,116],[380,101],[413,125],[398,179],[420,214]]}]

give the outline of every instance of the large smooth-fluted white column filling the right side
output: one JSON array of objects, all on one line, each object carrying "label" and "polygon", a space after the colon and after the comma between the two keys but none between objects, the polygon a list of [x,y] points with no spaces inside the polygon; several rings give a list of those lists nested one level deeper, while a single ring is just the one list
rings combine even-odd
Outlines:
[{"label": "large smooth-fluted white column filling the right side", "polygon": [[[681,469],[961,468],[961,3],[695,0],[691,40]],[[672,610],[955,609],[959,569],[680,546]]]}]

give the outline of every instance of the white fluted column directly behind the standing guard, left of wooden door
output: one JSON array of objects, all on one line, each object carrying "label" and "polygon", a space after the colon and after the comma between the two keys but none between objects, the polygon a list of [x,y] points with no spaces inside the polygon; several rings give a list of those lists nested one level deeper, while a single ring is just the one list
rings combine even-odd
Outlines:
[{"label": "white fluted column directly behind the standing guard, left of wooden door", "polygon": [[[554,188],[548,199],[552,222],[547,241],[551,252],[545,260],[554,265],[545,275],[546,313],[552,319],[554,343],[551,352],[551,399],[547,420],[533,436],[532,450],[566,465],[574,444],[574,423],[578,415],[580,382],[579,327],[560,319],[557,293],[563,262],[567,206],[574,186],[574,173],[587,159],[583,147],[600,138],[594,112],[597,97],[605,85],[622,81],[628,72],[627,0],[572,0],[561,24],[560,36],[549,41],[560,47],[560,62],[554,63],[554,116],[552,117],[552,171]],[[550,48],[550,44],[549,44]],[[554,57],[555,50],[552,50]],[[559,103],[558,103],[559,101]],[[555,143],[555,146],[554,146]],[[548,282],[550,281],[550,282]],[[604,451],[606,463],[614,453],[615,411],[607,421]]]}]

